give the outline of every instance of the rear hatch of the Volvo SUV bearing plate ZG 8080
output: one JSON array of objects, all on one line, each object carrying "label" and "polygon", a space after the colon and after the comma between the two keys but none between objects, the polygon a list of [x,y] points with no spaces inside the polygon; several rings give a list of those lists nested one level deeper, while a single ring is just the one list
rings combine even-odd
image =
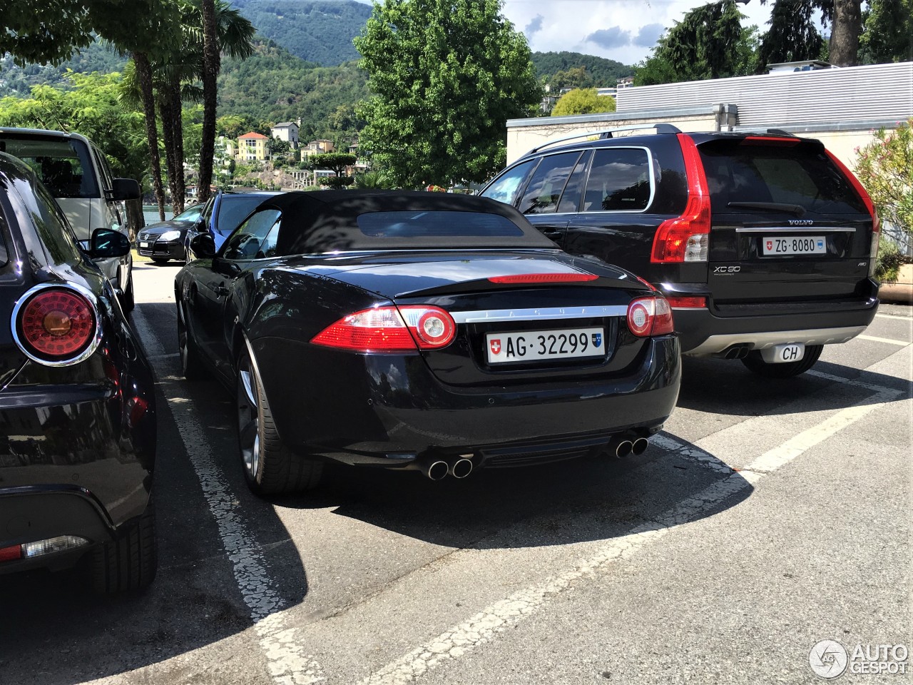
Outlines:
[{"label": "rear hatch of the Volvo SUV bearing plate ZG 8080", "polygon": [[866,306],[877,218],[861,184],[821,142],[788,135],[695,140],[711,204],[714,314]]}]

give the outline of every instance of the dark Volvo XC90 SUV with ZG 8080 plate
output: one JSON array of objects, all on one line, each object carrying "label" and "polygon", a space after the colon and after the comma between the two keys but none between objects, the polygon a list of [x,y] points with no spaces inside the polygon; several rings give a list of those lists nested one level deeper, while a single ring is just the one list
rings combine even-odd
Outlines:
[{"label": "dark Volvo XC90 SUV with ZG 8080 plate", "polygon": [[821,142],[636,128],[546,143],[481,195],[516,206],[566,251],[656,285],[684,354],[783,378],[866,329],[878,305],[878,220]]}]

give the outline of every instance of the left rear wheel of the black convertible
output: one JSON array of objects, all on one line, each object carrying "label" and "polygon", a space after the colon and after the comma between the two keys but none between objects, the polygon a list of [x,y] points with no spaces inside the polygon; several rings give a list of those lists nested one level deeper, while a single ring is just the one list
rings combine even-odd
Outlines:
[{"label": "left rear wheel of the black convertible", "polygon": [[323,462],[301,457],[282,444],[257,365],[247,349],[238,359],[236,386],[238,451],[250,490],[278,495],[316,487]]}]

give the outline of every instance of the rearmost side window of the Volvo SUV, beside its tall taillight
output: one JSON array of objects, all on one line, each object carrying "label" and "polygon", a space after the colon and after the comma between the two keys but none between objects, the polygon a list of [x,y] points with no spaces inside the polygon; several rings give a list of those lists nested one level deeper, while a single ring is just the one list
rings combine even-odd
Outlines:
[{"label": "rearmost side window of the Volvo SUV, beside its tall taillight", "polygon": [[584,212],[640,212],[650,204],[650,158],[639,148],[597,150],[583,197]]}]

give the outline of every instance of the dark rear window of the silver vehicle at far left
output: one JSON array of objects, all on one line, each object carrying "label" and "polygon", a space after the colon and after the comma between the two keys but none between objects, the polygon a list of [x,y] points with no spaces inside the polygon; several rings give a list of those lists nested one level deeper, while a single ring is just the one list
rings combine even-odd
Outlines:
[{"label": "dark rear window of the silver vehicle at far left", "polygon": [[5,133],[0,137],[0,152],[12,154],[32,167],[55,197],[101,196],[92,171],[89,146],[82,141]]}]

